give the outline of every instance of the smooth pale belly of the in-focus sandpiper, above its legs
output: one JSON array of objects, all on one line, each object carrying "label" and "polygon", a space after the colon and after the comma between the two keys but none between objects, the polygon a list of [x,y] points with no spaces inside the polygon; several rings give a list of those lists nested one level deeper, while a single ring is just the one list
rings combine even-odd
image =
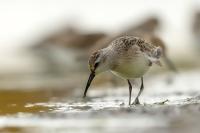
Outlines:
[{"label": "smooth pale belly of the in-focus sandpiper, above its legs", "polygon": [[111,72],[126,79],[140,78],[147,72],[149,67],[149,60],[145,56],[141,56],[132,60],[121,59],[118,66]]}]

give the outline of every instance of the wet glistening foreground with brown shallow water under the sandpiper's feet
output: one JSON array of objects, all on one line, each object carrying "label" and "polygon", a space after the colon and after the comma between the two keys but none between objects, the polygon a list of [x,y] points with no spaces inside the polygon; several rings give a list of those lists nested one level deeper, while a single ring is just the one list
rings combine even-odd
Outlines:
[{"label": "wet glistening foreground with brown shallow water under the sandpiper's feet", "polygon": [[173,82],[166,75],[146,79],[142,104],[131,107],[127,86],[93,87],[87,99],[65,90],[2,90],[0,132],[199,132],[199,78],[195,71],[173,76]]}]

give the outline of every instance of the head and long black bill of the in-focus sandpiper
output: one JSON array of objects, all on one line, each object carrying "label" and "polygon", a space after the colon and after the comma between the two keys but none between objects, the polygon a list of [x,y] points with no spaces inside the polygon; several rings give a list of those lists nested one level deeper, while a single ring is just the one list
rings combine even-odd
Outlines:
[{"label": "head and long black bill of the in-focus sandpiper", "polygon": [[94,77],[97,74],[107,71],[109,69],[109,65],[106,60],[107,60],[107,56],[104,50],[98,50],[90,56],[89,62],[88,62],[89,69],[90,69],[90,76],[89,76],[83,97],[86,97],[87,90],[90,87],[90,84],[92,83],[92,80],[94,79]]}]

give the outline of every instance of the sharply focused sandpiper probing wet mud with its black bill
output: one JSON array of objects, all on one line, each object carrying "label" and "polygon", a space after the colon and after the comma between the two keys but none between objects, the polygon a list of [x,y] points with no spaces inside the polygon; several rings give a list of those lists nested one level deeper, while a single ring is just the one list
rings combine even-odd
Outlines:
[{"label": "sharply focused sandpiper probing wet mud with its black bill", "polygon": [[135,101],[132,104],[140,104],[144,84],[143,75],[153,63],[161,65],[159,58],[162,49],[156,47],[144,39],[134,36],[122,36],[110,43],[108,47],[94,52],[89,58],[90,76],[84,91],[84,98],[94,77],[102,72],[111,71],[113,74],[127,80],[129,85],[129,105],[131,105],[132,85],[130,80],[141,78],[141,86]]}]

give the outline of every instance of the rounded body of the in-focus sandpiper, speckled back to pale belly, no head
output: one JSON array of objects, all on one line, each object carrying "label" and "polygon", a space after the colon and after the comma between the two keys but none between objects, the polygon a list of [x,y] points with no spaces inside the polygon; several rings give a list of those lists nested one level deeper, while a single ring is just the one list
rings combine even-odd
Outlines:
[{"label": "rounded body of the in-focus sandpiper, speckled back to pale belly, no head", "polygon": [[119,37],[103,50],[111,62],[111,72],[129,79],[141,77],[161,56],[160,48],[133,36]]}]

